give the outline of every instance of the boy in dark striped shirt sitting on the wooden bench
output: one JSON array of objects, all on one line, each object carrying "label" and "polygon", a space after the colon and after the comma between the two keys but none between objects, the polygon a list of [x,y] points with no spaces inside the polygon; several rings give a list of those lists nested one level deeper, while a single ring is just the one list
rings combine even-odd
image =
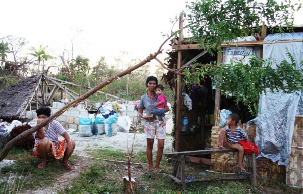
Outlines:
[{"label": "boy in dark striped shirt sitting on the wooden bench", "polygon": [[238,154],[238,167],[241,171],[246,172],[244,167],[242,166],[242,160],[244,156],[244,148],[238,142],[245,139],[248,142],[248,135],[245,131],[237,125],[240,117],[236,113],[232,113],[228,115],[226,120],[226,127],[220,130],[218,147],[219,149],[223,149],[223,147],[235,148],[239,151]]}]

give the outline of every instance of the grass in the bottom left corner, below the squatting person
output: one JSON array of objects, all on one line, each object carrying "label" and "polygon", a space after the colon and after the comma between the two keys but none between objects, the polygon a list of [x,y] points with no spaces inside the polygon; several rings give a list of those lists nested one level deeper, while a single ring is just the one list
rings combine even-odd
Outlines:
[{"label": "grass in the bottom left corner, below the squatting person", "polygon": [[[36,190],[51,186],[60,174],[66,172],[61,167],[61,161],[56,159],[48,160],[45,169],[38,169],[37,165],[40,163],[40,159],[32,154],[28,154],[27,150],[21,148],[13,148],[6,159],[13,159],[15,163],[1,169],[0,176],[4,181],[0,182],[0,193],[5,193],[4,191],[8,185],[11,187],[10,193],[17,193],[17,190],[14,189],[19,187],[19,190],[21,186],[20,182],[23,182],[24,179],[22,189]],[[11,178],[9,179],[10,176]],[[9,192],[7,191],[6,193]]]}]

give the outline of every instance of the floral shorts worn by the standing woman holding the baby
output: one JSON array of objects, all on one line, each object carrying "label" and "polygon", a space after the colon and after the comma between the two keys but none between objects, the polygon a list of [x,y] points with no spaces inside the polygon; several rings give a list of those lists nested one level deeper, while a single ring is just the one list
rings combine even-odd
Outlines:
[{"label": "floral shorts worn by the standing woman holding the baby", "polygon": [[165,125],[159,127],[162,124],[162,121],[159,122],[146,122],[144,123],[144,131],[146,139],[166,139]]}]

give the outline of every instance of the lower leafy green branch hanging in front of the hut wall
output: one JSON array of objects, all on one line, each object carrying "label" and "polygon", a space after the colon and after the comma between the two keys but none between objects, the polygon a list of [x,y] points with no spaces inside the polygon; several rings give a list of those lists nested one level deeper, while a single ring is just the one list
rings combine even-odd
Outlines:
[{"label": "lower leafy green branch hanging in front of the hut wall", "polygon": [[[217,78],[220,80],[218,87],[223,95],[232,96],[237,104],[242,102],[248,106],[251,113],[257,114],[256,102],[261,94],[266,94],[267,91],[292,93],[302,87],[302,73],[297,70],[291,54],[287,53],[287,55],[290,62],[283,60],[280,64],[276,64],[273,59],[263,60],[252,57],[249,64],[237,62],[218,66],[213,63],[201,68],[196,66],[192,70],[195,73],[191,73],[189,69],[184,71],[187,75],[184,81],[186,84],[191,84],[208,73],[212,76],[214,84]],[[272,67],[274,64],[276,68]]]}]

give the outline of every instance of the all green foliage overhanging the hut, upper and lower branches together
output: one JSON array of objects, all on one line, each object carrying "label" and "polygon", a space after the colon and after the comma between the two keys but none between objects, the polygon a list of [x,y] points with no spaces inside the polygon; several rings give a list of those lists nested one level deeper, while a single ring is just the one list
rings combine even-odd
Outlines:
[{"label": "all green foliage overhanging the hut, upper and lower branches together", "polygon": [[[256,0],[198,0],[186,7],[188,11],[183,12],[183,16],[192,34],[191,41],[197,41],[214,55],[215,52],[222,52],[222,42],[261,32],[260,26],[264,23],[269,25],[271,31],[291,31],[293,13],[301,8],[301,4],[292,4],[290,1],[278,4],[274,0],[265,4]],[[297,64],[290,54],[288,57],[290,63],[284,60],[277,65],[277,69],[271,68],[273,60],[258,57],[251,58],[249,64],[195,64],[183,70],[187,75],[185,83],[198,81],[208,74],[213,78],[213,83],[220,80],[217,87],[223,94],[232,95],[236,103],[243,102],[256,114],[256,101],[262,93],[266,93],[266,88],[271,92],[281,89],[291,93],[303,85],[302,74],[296,70]]]}]

